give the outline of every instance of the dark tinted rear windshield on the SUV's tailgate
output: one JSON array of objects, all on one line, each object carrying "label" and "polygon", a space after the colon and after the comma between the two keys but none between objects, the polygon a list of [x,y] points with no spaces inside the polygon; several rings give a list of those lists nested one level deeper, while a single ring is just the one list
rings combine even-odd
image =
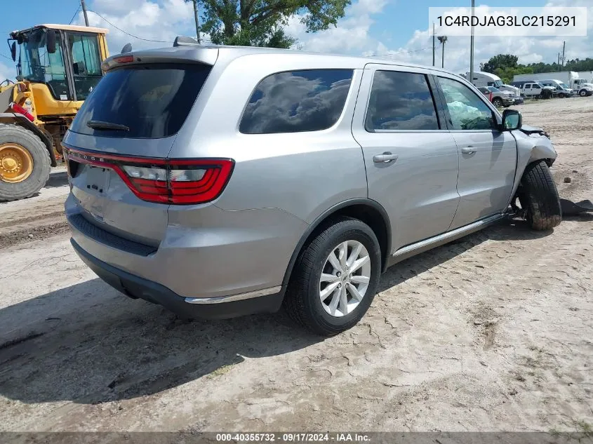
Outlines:
[{"label": "dark tinted rear windshield on the SUV's tailgate", "polygon": [[[107,72],[70,126],[74,133],[102,137],[167,137],[179,131],[211,67],[135,65]],[[107,122],[127,130],[89,127]]]}]

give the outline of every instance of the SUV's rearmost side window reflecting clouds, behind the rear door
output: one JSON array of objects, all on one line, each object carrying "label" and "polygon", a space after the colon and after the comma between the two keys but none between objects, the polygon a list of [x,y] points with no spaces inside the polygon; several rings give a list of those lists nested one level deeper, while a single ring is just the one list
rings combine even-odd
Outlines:
[{"label": "SUV's rearmost side window reflecting clouds, behind the rear door", "polygon": [[352,69],[311,69],[267,76],[253,91],[239,131],[300,133],[333,126],[346,103]]}]

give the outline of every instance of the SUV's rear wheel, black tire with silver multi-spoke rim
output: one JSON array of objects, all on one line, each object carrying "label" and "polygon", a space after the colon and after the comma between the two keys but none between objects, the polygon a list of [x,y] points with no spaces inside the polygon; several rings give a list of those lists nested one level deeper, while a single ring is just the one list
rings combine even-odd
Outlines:
[{"label": "SUV's rear wheel, black tire with silver multi-spoke rim", "polygon": [[284,297],[293,321],[317,335],[352,328],[371,306],[380,278],[380,246],[360,220],[341,217],[305,247]]}]

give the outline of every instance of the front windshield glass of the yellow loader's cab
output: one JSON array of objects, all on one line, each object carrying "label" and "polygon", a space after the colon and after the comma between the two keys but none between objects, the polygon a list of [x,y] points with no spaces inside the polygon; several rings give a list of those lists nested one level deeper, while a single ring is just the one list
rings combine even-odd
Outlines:
[{"label": "front windshield glass of the yellow loader's cab", "polygon": [[53,54],[46,49],[46,29],[34,29],[25,34],[20,45],[19,67],[25,79],[46,83],[56,100],[69,99],[60,34],[55,34]]}]

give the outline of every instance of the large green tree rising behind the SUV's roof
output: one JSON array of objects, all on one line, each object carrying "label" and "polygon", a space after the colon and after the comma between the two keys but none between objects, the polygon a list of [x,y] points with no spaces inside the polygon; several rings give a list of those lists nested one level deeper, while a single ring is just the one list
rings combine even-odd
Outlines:
[{"label": "large green tree rising behind the SUV's roof", "polygon": [[[193,1],[193,0],[185,0]],[[298,15],[307,32],[335,26],[351,0],[198,0],[201,32],[215,44],[290,48],[284,32]]]}]

